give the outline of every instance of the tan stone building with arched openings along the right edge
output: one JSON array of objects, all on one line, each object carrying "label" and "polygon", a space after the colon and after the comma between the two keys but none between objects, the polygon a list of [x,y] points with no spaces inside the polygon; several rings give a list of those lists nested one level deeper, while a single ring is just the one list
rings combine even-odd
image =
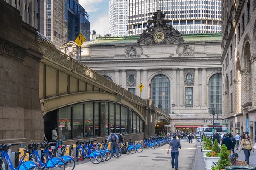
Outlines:
[{"label": "tan stone building with arched openings along the right edge", "polygon": [[233,133],[256,133],[256,1],[222,0],[223,121]]}]

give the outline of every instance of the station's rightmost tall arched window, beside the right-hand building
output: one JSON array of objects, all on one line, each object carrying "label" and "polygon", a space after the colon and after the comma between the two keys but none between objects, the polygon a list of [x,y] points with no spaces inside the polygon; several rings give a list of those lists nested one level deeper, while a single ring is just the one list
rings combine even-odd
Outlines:
[{"label": "station's rightmost tall arched window, beside the right-hand building", "polygon": [[[219,107],[218,113],[222,113],[221,74],[214,74],[209,79],[209,106],[214,104]],[[212,113],[212,110],[210,110]],[[216,113],[216,111],[215,111]]]}]

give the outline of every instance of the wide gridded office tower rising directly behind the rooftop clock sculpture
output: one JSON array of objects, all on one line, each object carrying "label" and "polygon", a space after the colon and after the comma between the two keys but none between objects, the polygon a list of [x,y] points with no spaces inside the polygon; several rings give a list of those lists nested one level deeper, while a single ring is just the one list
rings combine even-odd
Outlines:
[{"label": "wide gridded office tower rising directly behind the rooftop clock sculpture", "polygon": [[158,9],[181,34],[221,32],[221,0],[128,0],[128,35],[141,34]]}]

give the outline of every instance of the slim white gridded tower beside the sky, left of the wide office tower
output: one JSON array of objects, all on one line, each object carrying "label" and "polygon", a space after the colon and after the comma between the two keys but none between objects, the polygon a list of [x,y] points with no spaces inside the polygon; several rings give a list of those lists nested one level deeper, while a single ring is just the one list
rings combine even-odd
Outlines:
[{"label": "slim white gridded tower beside the sky, left of the wide office tower", "polygon": [[109,34],[127,35],[127,0],[109,1]]}]

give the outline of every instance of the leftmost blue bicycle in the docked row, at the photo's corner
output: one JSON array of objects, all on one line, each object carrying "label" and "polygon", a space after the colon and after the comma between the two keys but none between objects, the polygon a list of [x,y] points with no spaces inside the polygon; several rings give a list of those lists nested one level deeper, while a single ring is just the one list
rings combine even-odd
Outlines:
[{"label": "leftmost blue bicycle in the docked row, at the photo's corner", "polygon": [[[9,147],[15,146],[15,145],[18,145],[18,144],[7,144],[7,145],[2,144],[2,145],[0,145],[0,170],[7,170],[8,165],[11,170],[40,170],[40,164],[38,164],[37,162],[35,162],[35,161],[26,161],[25,162],[24,161],[26,154],[31,153],[32,150],[23,150],[24,155],[21,157],[18,167],[14,168],[7,153],[8,153]],[[7,164],[7,162],[8,162],[8,164]]]}]

